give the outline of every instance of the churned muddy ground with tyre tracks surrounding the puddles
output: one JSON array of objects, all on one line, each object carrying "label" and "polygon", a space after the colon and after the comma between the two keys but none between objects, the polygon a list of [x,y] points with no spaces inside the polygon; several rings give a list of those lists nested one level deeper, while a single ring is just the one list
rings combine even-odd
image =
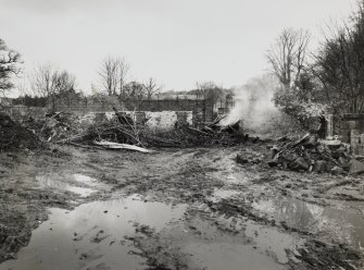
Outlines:
[{"label": "churned muddy ground with tyre tracks surrounding the puddles", "polygon": [[[256,254],[254,250],[258,250],[273,258],[273,262],[271,260],[267,262],[271,267],[277,263],[280,266],[279,256],[280,260],[284,258],[285,268],[290,269],[323,269],[323,266],[329,266],[332,269],[360,267],[362,258],[357,250],[348,247],[344,243],[335,243],[326,237],[327,235],[311,231],[310,228],[301,229],[285,222],[284,219],[278,220],[275,216],[269,216],[264,212],[264,209],[254,208],[254,204],[259,204],[262,198],[296,198],[322,207],[330,206],[335,204],[332,195],[327,194],[324,188],[335,185],[336,181],[340,186],[347,186],[352,181],[343,183],[340,177],[332,179],[331,175],[307,175],[269,170],[264,162],[238,165],[235,157],[242,148],[246,154],[256,152],[253,155],[260,156],[265,146],[161,149],[151,155],[77,150],[76,154],[72,152],[71,157],[47,156],[47,158],[37,158],[38,161],[28,161],[28,167],[20,170],[20,174],[30,175],[30,171],[34,171],[38,163],[46,170],[49,165],[50,171],[85,173],[98,179],[111,189],[101,188],[97,195],[80,199],[67,193],[34,191],[28,183],[21,182],[16,186],[18,199],[14,201],[18,201],[18,205],[32,201],[35,209],[24,209],[22,214],[13,211],[12,217],[23,217],[21,223],[25,224],[27,235],[22,236],[21,232],[13,231],[13,235],[22,241],[14,245],[11,253],[14,254],[20,246],[27,244],[33,222],[37,225],[38,221],[47,218],[46,207],[70,208],[72,200],[81,204],[140,194],[148,201],[188,205],[184,219],[162,232],[155,233],[151,229],[146,235],[143,230],[137,228],[139,237],[136,237],[133,243],[141,250],[139,256],[147,258],[148,265],[154,269],[192,269],[189,263],[193,261],[197,263],[192,263],[193,269],[201,269],[199,267],[202,262],[198,258],[191,259],[188,250],[184,249],[188,244],[186,240],[193,243],[191,249],[199,245],[210,246],[215,250],[215,243],[223,241],[224,237],[229,240],[228,245],[231,246],[239,240],[243,247],[239,244],[237,248],[241,248],[247,254]],[[55,169],[57,165],[60,168]],[[354,182],[356,183],[357,180]],[[356,185],[363,185],[363,183],[356,183]],[[10,182],[3,183],[3,191],[9,191],[10,186]],[[4,193],[3,191],[1,193]],[[218,191],[226,191],[227,195],[221,193],[222,197],[217,198]],[[231,191],[234,191],[233,195]],[[9,200],[15,198],[11,196],[13,195],[4,195],[2,202],[9,204]],[[13,220],[15,222],[16,219],[13,218]],[[10,235],[9,232],[5,233]],[[267,241],[273,240],[269,234],[279,235],[280,238],[289,236],[304,240],[305,243],[297,248],[287,244],[286,251],[277,247],[272,249],[267,244]],[[8,243],[2,247],[8,248],[10,245],[12,244]],[[3,254],[11,254],[10,249],[3,250]],[[196,250],[200,253],[199,248]],[[276,254],[279,256],[277,257]],[[200,256],[202,258],[204,254]]]}]

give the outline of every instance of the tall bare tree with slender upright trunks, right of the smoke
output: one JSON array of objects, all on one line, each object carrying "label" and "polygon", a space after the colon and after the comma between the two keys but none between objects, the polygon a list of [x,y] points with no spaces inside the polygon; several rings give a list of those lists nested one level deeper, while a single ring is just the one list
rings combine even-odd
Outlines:
[{"label": "tall bare tree with slender upright trunks, right of the smoke", "polygon": [[286,89],[294,87],[300,78],[309,40],[310,34],[306,30],[284,29],[266,56],[274,74]]}]

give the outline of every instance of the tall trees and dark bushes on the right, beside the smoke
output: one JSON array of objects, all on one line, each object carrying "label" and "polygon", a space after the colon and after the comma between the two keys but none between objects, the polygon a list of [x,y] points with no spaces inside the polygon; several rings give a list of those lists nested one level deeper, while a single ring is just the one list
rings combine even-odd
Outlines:
[{"label": "tall trees and dark bushes on the right, beside the smoke", "polygon": [[279,81],[275,105],[302,122],[325,113],[364,112],[364,1],[348,21],[330,25],[317,51],[310,33],[287,28],[266,53]]}]

